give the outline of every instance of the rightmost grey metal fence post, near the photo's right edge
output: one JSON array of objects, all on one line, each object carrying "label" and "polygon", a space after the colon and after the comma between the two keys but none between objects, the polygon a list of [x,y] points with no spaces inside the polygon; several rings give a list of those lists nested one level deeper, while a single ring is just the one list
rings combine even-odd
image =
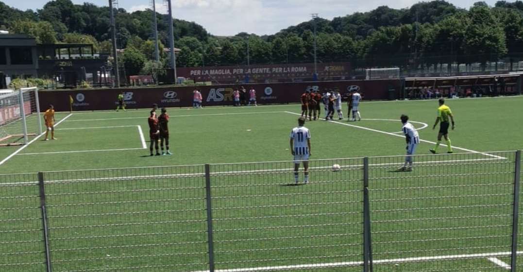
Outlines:
[{"label": "rightmost grey metal fence post, near the photo's right edge", "polygon": [[519,178],[521,173],[521,150],[516,151],[514,167],[514,201],[512,212],[512,254],[510,256],[510,271],[516,272],[516,259],[518,250],[518,223],[519,223]]}]

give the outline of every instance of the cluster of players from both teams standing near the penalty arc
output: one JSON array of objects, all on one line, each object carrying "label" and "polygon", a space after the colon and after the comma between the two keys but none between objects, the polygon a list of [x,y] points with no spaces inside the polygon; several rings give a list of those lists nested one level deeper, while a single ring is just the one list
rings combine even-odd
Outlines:
[{"label": "cluster of players from both teams standing near the penalty arc", "polygon": [[[357,90],[352,90],[347,97],[348,112],[347,117],[350,121],[350,112],[353,113],[353,121],[361,121],[359,113],[359,103],[362,99],[361,94]],[[338,114],[338,119],[343,119],[342,111],[342,95],[338,90],[327,89],[323,94],[319,90],[306,90],[300,97],[301,100],[301,116],[305,119],[309,116],[309,121],[320,119],[320,103],[323,103],[325,110],[325,121],[334,120],[334,111]],[[313,119],[314,118],[314,119]]]}]

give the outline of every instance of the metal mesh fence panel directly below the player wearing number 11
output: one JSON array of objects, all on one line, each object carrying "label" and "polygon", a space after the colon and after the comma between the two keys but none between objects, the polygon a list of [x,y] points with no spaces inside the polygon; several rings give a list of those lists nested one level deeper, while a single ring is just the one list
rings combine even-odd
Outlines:
[{"label": "metal mesh fence panel directly below the player wearing number 11", "polygon": [[292,162],[211,165],[217,269],[360,265],[361,159],[309,164],[309,184],[302,167],[294,182]]}]

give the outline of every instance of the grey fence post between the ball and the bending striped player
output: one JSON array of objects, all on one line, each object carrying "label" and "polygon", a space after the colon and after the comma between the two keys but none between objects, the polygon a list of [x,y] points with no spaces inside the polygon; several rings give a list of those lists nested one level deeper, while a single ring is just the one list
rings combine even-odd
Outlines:
[{"label": "grey fence post between the ball and the bending striped player", "polygon": [[368,157],[363,158],[363,271],[372,271]]}]

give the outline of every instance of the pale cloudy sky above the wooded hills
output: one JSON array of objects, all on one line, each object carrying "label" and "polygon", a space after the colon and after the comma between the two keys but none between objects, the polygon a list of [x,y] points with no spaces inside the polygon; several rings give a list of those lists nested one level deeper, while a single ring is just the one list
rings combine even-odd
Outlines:
[{"label": "pale cloudy sky above the wooded hills", "polygon": [[[48,0],[0,0],[21,10],[39,9]],[[164,0],[156,0],[156,10],[166,13]],[[428,1],[428,0],[427,0]],[[479,0],[447,0],[462,8],[469,8]],[[108,5],[108,0],[72,0],[75,4],[90,2]],[[118,0],[118,6],[128,12],[150,8],[152,0]],[[240,32],[257,35],[274,34],[281,29],[310,19],[312,13],[332,19],[355,12],[368,12],[379,6],[406,8],[419,0],[172,0],[173,16],[194,21],[209,33],[217,36],[233,36]],[[485,0],[493,6],[497,0]],[[507,1],[514,2],[514,1]]]}]

